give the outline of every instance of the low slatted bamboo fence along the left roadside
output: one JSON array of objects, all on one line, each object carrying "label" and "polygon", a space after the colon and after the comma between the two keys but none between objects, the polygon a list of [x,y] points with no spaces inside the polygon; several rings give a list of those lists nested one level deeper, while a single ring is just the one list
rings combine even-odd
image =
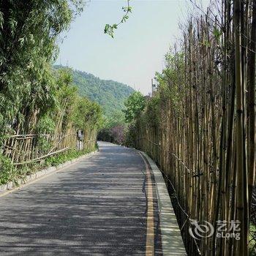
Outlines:
[{"label": "low slatted bamboo fence along the left roadside", "polygon": [[85,130],[80,138],[78,132],[70,131],[57,135],[11,135],[4,143],[2,154],[9,157],[13,165],[26,165],[71,149],[92,151],[96,140],[96,129]]}]

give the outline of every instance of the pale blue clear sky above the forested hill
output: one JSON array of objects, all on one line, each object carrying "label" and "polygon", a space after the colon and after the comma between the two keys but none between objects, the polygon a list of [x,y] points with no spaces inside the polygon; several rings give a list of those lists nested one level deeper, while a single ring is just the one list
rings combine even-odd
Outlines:
[{"label": "pale blue clear sky above the forested hill", "polygon": [[[186,20],[189,0],[132,0],[127,23],[104,34],[106,23],[118,23],[126,0],[91,0],[69,31],[59,39],[56,64],[116,80],[148,94],[151,78],[164,67],[167,50],[181,38],[179,23]],[[208,1],[203,1],[204,5]]]}]

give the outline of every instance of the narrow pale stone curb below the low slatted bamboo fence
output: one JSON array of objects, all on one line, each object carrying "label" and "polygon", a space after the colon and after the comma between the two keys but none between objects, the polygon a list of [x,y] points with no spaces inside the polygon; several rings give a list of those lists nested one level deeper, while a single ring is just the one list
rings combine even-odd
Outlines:
[{"label": "narrow pale stone curb below the low slatted bamboo fence", "polygon": [[18,185],[16,185],[13,181],[10,181],[7,184],[1,185],[0,196],[5,194],[6,192],[12,192],[13,189],[19,189],[20,185],[29,184],[31,181],[36,181],[37,179],[42,178],[43,176],[46,176],[50,173],[55,173],[57,170],[61,170],[64,167],[68,167],[69,165],[72,165],[75,162],[79,162],[81,159],[91,157],[91,155],[97,154],[98,151],[99,149],[92,151],[88,154],[84,154],[78,158],[64,162],[63,164],[47,167],[45,169],[37,171],[36,173],[29,174],[25,176],[25,178],[18,178],[18,181],[17,181]]}]

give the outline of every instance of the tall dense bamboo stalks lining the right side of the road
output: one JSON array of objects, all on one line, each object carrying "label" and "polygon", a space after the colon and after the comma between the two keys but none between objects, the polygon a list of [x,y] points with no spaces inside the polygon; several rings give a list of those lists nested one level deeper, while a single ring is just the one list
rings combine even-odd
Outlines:
[{"label": "tall dense bamboo stalks lining the right side of the road", "polygon": [[[255,0],[191,15],[130,129],[164,173],[189,255],[255,255],[255,42]],[[210,222],[213,236],[192,238],[191,219]],[[219,222],[234,220],[240,240],[217,237]]]}]

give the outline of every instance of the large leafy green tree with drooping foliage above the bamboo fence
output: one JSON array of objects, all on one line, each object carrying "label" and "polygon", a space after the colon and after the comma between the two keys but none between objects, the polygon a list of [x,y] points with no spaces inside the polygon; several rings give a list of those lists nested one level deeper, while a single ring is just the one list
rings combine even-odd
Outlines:
[{"label": "large leafy green tree with drooping foliage above the bamboo fence", "polygon": [[28,132],[35,113],[53,103],[56,39],[82,7],[80,0],[0,1],[1,133]]}]

